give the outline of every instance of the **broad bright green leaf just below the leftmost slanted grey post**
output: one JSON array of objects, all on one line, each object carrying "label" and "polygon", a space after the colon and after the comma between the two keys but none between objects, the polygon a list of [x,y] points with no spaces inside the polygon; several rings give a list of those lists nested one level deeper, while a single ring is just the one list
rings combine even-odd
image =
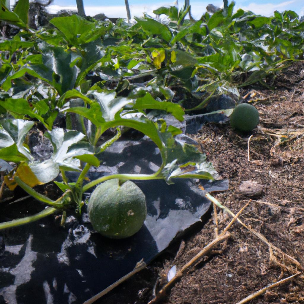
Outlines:
[{"label": "broad bright green leaf just below the leftmost slanted grey post", "polygon": [[50,23],[64,34],[68,43],[78,46],[94,41],[104,36],[111,29],[111,25],[105,27],[101,24],[90,22],[81,16],[56,17]]}]

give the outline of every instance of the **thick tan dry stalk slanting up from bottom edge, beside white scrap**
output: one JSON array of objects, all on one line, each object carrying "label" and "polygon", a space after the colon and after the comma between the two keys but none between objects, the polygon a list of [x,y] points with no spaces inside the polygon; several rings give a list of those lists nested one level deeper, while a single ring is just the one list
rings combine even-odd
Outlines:
[{"label": "thick tan dry stalk slanting up from bottom edge, beside white scrap", "polygon": [[[251,201],[251,200],[250,200]],[[154,304],[163,299],[167,292],[173,287],[173,285],[182,277],[185,275],[185,273],[193,267],[195,264],[197,264],[206,254],[208,254],[213,247],[218,245],[219,243],[223,242],[224,240],[227,240],[230,237],[230,232],[228,231],[233,223],[237,220],[238,216],[243,212],[243,210],[248,206],[250,203],[247,202],[247,204],[236,214],[234,215],[233,219],[230,221],[230,223],[225,227],[223,232],[216,236],[214,240],[212,240],[208,245],[206,245],[198,254],[196,254],[188,263],[186,263],[179,271],[176,272],[174,278],[172,278],[153,298],[148,304]]]}]

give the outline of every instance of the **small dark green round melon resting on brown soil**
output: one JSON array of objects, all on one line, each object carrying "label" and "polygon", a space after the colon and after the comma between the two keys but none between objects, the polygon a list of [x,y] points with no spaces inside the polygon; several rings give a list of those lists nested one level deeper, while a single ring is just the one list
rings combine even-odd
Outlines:
[{"label": "small dark green round melon resting on brown soil", "polygon": [[259,112],[253,105],[248,103],[237,105],[230,116],[231,126],[241,132],[252,131],[259,122]]}]

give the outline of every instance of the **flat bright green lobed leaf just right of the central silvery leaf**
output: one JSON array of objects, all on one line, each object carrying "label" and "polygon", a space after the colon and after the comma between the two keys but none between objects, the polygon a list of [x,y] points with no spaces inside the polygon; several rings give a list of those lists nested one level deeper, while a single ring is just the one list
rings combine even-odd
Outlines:
[{"label": "flat bright green lobed leaf just right of the central silvery leaf", "polygon": [[135,104],[133,105],[134,109],[143,110],[143,109],[157,109],[164,110],[171,113],[179,121],[184,120],[184,110],[180,105],[172,102],[159,102],[156,101],[150,93],[146,93],[144,97],[136,99]]}]

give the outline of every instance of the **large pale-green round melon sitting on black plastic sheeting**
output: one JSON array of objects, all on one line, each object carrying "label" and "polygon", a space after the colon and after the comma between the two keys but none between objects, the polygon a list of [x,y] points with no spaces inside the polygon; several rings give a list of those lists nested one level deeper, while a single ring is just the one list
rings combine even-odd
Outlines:
[{"label": "large pale-green round melon sitting on black plastic sheeting", "polygon": [[146,219],[146,197],[132,181],[119,185],[118,179],[110,179],[92,192],[88,214],[93,228],[103,236],[130,237]]}]

